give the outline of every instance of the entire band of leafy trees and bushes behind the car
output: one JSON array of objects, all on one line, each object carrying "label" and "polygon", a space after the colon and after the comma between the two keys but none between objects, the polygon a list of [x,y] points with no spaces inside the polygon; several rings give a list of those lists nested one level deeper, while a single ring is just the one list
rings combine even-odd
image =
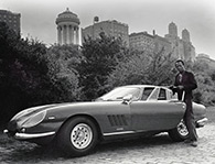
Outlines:
[{"label": "entire band of leafy trees and bushes behind the car", "polygon": [[[172,85],[174,61],[163,50],[128,50],[120,39],[100,34],[83,47],[20,39],[0,22],[0,123],[18,111],[43,103],[92,100],[116,86]],[[205,62],[189,63],[198,88],[194,100],[215,105],[215,69]]]}]

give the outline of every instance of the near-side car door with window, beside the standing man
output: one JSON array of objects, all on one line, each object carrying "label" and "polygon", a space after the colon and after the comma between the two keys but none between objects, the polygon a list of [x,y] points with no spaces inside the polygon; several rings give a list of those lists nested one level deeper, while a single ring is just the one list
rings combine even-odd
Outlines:
[{"label": "near-side car door with window, beside the standing man", "polygon": [[[144,90],[146,92],[151,90],[147,99]],[[166,90],[159,87],[144,88],[144,90],[141,100],[130,103],[132,129],[151,131],[175,128],[184,114],[183,102],[169,100]]]}]

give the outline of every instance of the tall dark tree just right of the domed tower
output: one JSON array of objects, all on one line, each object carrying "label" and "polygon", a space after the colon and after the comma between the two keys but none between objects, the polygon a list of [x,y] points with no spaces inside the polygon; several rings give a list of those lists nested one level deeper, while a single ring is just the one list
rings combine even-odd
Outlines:
[{"label": "tall dark tree just right of the domed tower", "polygon": [[85,39],[83,59],[78,66],[83,99],[90,100],[107,91],[109,74],[125,58],[127,48],[120,39],[100,33],[100,37]]}]

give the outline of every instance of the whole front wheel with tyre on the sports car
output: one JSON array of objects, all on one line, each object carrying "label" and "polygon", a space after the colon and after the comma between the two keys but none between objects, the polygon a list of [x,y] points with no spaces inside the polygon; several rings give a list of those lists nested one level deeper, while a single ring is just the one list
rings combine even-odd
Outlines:
[{"label": "whole front wheel with tyre on the sports car", "polygon": [[85,117],[77,117],[67,121],[60,130],[57,145],[67,155],[83,156],[95,147],[97,139],[95,123]]}]

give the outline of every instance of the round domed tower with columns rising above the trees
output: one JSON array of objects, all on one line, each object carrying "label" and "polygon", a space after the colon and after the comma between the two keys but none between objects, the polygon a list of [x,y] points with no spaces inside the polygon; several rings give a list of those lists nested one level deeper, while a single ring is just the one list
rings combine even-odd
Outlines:
[{"label": "round domed tower with columns rising above the trees", "polygon": [[79,19],[68,8],[57,15],[55,23],[57,25],[58,44],[79,43]]}]

